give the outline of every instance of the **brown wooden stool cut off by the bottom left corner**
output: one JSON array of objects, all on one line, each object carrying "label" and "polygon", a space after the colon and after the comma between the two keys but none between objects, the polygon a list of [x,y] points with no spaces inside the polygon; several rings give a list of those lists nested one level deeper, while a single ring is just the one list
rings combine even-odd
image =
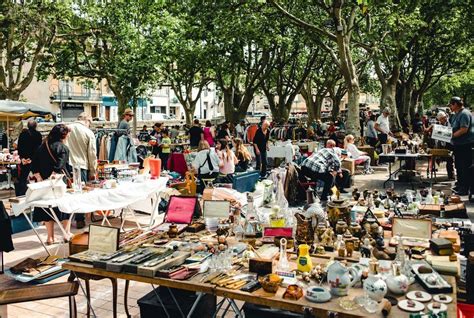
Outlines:
[{"label": "brown wooden stool cut off by the bottom left corner", "polygon": [[75,318],[77,317],[77,307],[74,296],[77,295],[78,288],[79,284],[77,282],[67,282],[7,289],[0,291],[0,306],[43,299],[68,297],[69,317]]}]

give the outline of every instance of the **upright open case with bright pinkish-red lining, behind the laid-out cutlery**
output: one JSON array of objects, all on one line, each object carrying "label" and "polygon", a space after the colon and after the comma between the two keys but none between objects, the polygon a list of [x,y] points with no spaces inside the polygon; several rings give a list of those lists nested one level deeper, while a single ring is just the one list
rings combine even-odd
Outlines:
[{"label": "upright open case with bright pinkish-red lining, behind the laid-out cutlery", "polygon": [[193,217],[201,216],[197,197],[171,196],[166,208],[165,222],[191,224]]}]

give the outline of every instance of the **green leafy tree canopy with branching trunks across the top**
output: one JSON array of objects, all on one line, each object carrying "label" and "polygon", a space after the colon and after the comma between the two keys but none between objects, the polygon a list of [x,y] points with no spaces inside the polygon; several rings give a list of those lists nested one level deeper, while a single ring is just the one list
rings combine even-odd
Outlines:
[{"label": "green leafy tree canopy with branching trunks across the top", "polygon": [[[360,94],[413,115],[447,95],[471,98],[473,4],[462,0],[4,1],[0,98],[18,99],[34,75],[106,80],[122,111],[170,86],[193,118],[214,82],[226,119],[256,94],[284,122],[301,94],[310,120],[324,98],[347,95],[356,135]],[[376,83],[374,87],[374,83]]]}]

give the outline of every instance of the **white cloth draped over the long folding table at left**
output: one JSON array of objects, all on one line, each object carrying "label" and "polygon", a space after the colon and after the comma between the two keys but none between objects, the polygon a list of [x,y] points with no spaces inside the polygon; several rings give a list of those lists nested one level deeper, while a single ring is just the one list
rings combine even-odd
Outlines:
[{"label": "white cloth draped over the long folding table at left", "polygon": [[[13,213],[21,214],[32,207],[58,207],[63,213],[89,213],[98,210],[116,210],[125,207],[137,208],[145,201],[166,188],[168,178],[161,177],[157,180],[145,182],[120,182],[113,189],[97,189],[84,193],[67,193],[64,196],[51,200],[38,200],[29,203],[13,205]],[[149,211],[152,212],[152,211]]]}]

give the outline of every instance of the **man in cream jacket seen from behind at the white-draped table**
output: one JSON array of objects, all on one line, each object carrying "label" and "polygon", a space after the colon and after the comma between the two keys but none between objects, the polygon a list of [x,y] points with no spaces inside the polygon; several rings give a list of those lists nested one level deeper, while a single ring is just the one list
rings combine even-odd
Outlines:
[{"label": "man in cream jacket seen from behind at the white-draped table", "polygon": [[[92,117],[86,113],[81,113],[77,120],[68,125],[71,132],[66,139],[66,146],[69,148],[69,162],[72,166],[81,168],[81,179],[87,182],[95,178],[97,168],[97,147],[95,135],[90,130]],[[85,226],[84,214],[76,214],[76,227],[78,229]]]}]

